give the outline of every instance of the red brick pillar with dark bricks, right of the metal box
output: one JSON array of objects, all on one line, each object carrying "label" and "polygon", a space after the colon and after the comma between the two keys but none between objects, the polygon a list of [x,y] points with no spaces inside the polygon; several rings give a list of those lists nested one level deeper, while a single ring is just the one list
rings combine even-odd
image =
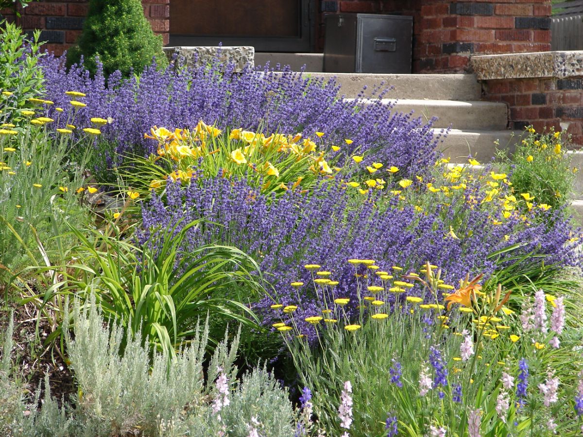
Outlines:
[{"label": "red brick pillar with dark bricks, right of the metal box", "polygon": [[549,0],[421,0],[415,72],[459,72],[472,54],[550,50]]}]

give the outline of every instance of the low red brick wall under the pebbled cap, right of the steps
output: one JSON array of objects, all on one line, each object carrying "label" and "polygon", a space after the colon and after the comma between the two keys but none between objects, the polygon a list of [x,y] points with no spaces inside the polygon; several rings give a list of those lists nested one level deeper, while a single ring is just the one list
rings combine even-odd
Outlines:
[{"label": "low red brick wall under the pebbled cap, right of the steps", "polygon": [[573,135],[574,145],[583,145],[583,78],[490,79],[482,89],[487,100],[508,104],[511,129],[532,124],[540,132],[561,126]]}]

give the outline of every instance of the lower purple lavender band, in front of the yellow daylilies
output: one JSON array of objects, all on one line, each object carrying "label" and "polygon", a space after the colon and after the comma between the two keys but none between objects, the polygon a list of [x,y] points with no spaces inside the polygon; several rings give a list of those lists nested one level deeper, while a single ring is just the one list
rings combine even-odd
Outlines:
[{"label": "lower purple lavender band, in front of the yellow daylilies", "polygon": [[[456,284],[466,273],[484,273],[487,277],[497,266],[511,263],[514,256],[528,253],[546,256],[549,265],[580,263],[572,245],[566,246],[571,228],[565,222],[557,221],[556,226],[547,229],[544,224],[525,226],[515,217],[493,226],[489,211],[468,209],[466,236],[459,239],[449,235],[448,217],[454,214],[456,205],[437,205],[433,212],[420,214],[413,206],[381,209],[375,206],[374,198],[370,200],[355,202],[342,185],[331,182],[311,193],[286,192],[275,201],[242,180],[205,178],[201,184],[192,181],[186,189],[170,184],[166,198],[153,196],[145,203],[138,238],[143,243],[160,228],[178,224],[180,229],[181,220],[189,223],[207,218],[214,223],[193,229],[188,244],[220,242],[250,253],[275,287],[278,303],[300,304],[296,315],[300,321],[304,315],[315,313],[319,298],[308,285],[312,273],[303,267],[307,264],[316,263],[332,272],[331,278],[339,281],[334,289],[336,297],[350,298],[346,311],[356,315],[353,303],[358,301],[358,279],[354,267],[347,263],[350,258],[375,259],[382,270],[388,271],[401,266],[403,274],[429,260],[443,269],[442,279],[448,284]],[[501,260],[487,258],[517,242],[522,246],[501,255]],[[360,273],[365,274],[366,267],[361,269]],[[381,284],[381,279],[371,276],[377,285]],[[296,289],[290,285],[294,281],[306,285]],[[430,298],[418,286],[408,295]],[[273,303],[265,298],[255,308],[264,313],[266,323],[276,316],[269,308]]]}]

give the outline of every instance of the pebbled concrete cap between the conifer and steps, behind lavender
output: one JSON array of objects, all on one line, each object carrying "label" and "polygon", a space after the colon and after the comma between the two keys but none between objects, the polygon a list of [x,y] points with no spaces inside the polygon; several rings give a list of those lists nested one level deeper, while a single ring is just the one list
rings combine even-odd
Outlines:
[{"label": "pebbled concrete cap between the conifer and steps, behind lavender", "polygon": [[[200,67],[209,64],[215,58],[219,58],[221,64],[227,65],[233,62],[235,71],[240,73],[245,66],[254,68],[255,48],[249,46],[234,47],[203,47],[203,46],[179,46],[164,47],[164,52],[169,61],[176,56],[177,64],[188,68]],[[177,65],[177,66],[178,66]]]}]

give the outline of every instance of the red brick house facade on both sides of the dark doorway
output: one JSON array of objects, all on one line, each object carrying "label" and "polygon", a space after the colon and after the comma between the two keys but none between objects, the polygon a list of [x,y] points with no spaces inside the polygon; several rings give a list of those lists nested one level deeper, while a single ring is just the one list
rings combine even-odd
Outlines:
[{"label": "red brick house facade on both sides of the dark doorway", "polygon": [[[168,43],[171,0],[142,0],[156,33]],[[550,0],[314,0],[315,51],[324,48],[326,12],[395,13],[413,16],[413,72],[462,72],[472,54],[550,50]],[[61,54],[75,41],[87,0],[30,3],[24,30],[44,29],[48,50]]]}]

